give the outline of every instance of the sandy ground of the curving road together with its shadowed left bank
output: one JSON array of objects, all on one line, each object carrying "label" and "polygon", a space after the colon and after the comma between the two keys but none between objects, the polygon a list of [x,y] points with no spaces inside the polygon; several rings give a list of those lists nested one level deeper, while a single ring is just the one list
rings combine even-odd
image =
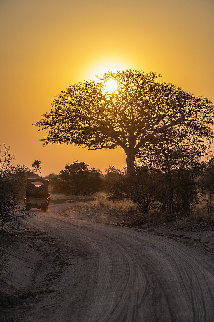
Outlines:
[{"label": "sandy ground of the curving road together with its shadowed left bank", "polygon": [[2,321],[214,320],[207,249],[95,223],[123,217],[72,210],[82,205],[52,204],[28,220],[4,256]]}]

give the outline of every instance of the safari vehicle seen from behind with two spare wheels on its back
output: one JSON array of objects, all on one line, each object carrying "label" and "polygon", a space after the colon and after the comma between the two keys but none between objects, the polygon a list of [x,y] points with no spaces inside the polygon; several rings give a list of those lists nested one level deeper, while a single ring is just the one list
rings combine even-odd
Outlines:
[{"label": "safari vehicle seen from behind with two spare wheels on its back", "polygon": [[28,178],[26,197],[24,199],[27,211],[32,208],[43,209],[44,211],[47,211],[50,196],[48,185],[48,179]]}]

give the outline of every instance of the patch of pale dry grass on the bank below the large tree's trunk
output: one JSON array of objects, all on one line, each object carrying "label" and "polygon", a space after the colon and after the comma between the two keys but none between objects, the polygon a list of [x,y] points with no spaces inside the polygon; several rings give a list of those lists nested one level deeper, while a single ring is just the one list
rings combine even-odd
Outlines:
[{"label": "patch of pale dry grass on the bank below the large tree's trunk", "polygon": [[116,210],[139,210],[138,206],[132,202],[127,200],[122,201],[114,201],[114,200],[106,200],[104,193],[98,193],[93,201],[93,205],[107,208],[107,209],[116,209]]}]

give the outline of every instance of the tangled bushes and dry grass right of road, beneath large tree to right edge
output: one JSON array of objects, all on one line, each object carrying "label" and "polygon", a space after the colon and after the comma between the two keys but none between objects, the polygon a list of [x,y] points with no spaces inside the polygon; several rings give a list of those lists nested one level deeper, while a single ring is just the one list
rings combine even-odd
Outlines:
[{"label": "tangled bushes and dry grass right of road, beneath large tree to right edge", "polygon": [[[131,182],[125,169],[109,166],[103,179],[105,193],[99,194],[94,204],[138,210],[137,217],[140,213],[143,217],[148,214],[151,220],[151,215],[159,216],[162,222],[174,221],[178,229],[191,220],[214,222],[214,158],[190,160],[187,152],[176,153],[175,162],[164,171],[158,168],[157,159],[154,168],[154,163],[145,166],[144,159],[139,158],[135,168],[137,176]],[[170,171],[170,185],[167,171]],[[136,221],[136,214],[133,221]]]}]

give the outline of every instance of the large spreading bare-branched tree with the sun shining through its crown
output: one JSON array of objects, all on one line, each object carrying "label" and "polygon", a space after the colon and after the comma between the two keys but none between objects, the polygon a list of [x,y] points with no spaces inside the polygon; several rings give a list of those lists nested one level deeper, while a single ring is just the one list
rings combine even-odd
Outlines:
[{"label": "large spreading bare-branched tree with the sun shining through its crown", "polygon": [[[89,150],[114,149],[126,154],[127,172],[135,173],[137,151],[164,129],[179,124],[214,124],[214,107],[204,97],[194,97],[160,75],[139,70],[107,71],[98,81],[68,87],[50,103],[49,113],[36,123],[47,130],[45,144],[71,143]],[[108,92],[107,80],[118,89]]]}]

